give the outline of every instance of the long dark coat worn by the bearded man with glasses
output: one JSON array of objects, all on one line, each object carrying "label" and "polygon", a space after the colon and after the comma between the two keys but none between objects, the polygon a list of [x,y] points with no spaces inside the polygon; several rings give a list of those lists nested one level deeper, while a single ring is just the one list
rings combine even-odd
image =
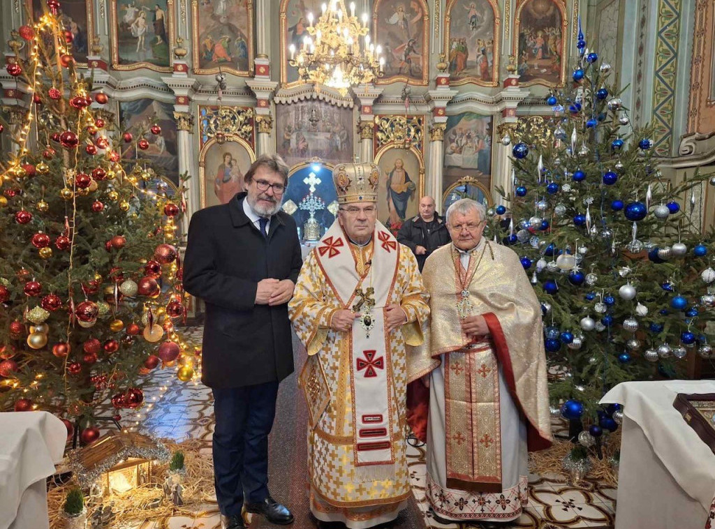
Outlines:
[{"label": "long dark coat worn by the bearded man with glasses", "polygon": [[257,283],[295,283],[300,242],[293,218],[278,212],[266,240],[243,211],[246,193],[193,214],[184,258],[184,289],[206,303],[202,382],[240,387],[293,372],[288,304],[255,305]]}]

